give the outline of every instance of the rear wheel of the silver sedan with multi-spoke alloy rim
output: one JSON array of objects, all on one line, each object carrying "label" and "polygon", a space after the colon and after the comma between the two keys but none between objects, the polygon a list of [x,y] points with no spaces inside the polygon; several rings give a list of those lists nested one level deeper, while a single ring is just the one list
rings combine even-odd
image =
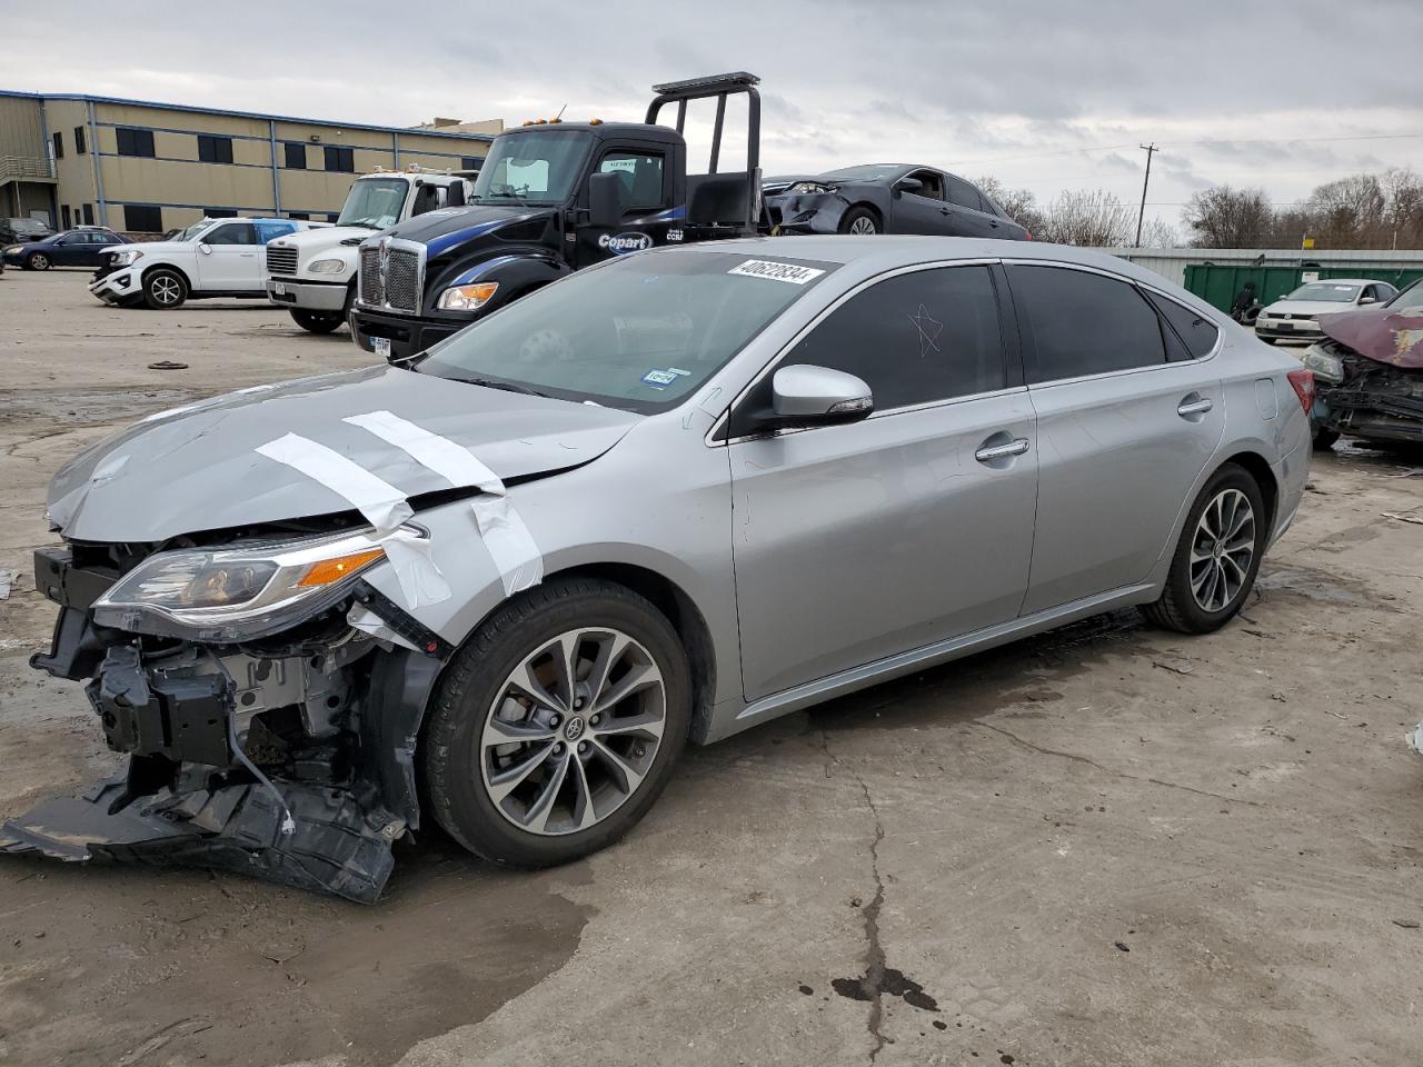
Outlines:
[{"label": "rear wheel of the silver sedan with multi-spoke alloy rim", "polygon": [[1248,471],[1225,464],[1191,505],[1161,598],[1143,607],[1157,626],[1218,630],[1241,609],[1265,552],[1269,516]]}]

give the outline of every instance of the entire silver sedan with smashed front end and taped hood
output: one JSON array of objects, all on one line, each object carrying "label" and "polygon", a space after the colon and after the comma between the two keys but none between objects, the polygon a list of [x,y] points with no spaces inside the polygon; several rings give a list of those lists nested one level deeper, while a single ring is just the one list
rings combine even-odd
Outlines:
[{"label": "entire silver sedan with smashed front end and taped hood", "polygon": [[1077,249],[619,258],[68,464],[36,666],[132,758],[0,848],[360,901],[431,817],[499,864],[586,855],[687,740],[1126,605],[1222,626],[1299,506],[1311,401]]}]

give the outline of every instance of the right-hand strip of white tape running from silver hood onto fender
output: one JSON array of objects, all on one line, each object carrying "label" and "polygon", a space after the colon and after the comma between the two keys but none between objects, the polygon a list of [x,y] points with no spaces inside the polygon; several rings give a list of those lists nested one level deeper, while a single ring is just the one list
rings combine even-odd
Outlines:
[{"label": "right-hand strip of white tape running from silver hood onto fender", "polygon": [[390,411],[370,411],[344,421],[396,445],[453,487],[478,487],[484,495],[474,501],[474,521],[499,570],[505,596],[544,580],[544,553],[509,501],[504,482],[468,448]]}]

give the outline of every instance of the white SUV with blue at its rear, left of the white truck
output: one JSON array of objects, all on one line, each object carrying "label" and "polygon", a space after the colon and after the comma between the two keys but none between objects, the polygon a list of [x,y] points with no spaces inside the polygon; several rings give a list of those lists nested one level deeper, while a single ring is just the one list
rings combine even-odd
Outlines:
[{"label": "white SUV with blue at its rear, left of the white truck", "polygon": [[90,292],[108,304],[158,310],[201,297],[262,299],[263,246],[312,226],[296,219],[203,219],[171,240],[124,245],[105,255]]}]

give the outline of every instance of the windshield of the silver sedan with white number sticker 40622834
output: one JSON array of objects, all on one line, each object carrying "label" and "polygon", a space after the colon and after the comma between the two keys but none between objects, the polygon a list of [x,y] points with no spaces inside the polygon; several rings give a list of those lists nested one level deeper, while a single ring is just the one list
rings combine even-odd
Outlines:
[{"label": "windshield of the silver sedan with white number sticker 40622834", "polygon": [[834,269],[784,256],[643,252],[514,302],[433,347],[416,370],[662,411]]}]

